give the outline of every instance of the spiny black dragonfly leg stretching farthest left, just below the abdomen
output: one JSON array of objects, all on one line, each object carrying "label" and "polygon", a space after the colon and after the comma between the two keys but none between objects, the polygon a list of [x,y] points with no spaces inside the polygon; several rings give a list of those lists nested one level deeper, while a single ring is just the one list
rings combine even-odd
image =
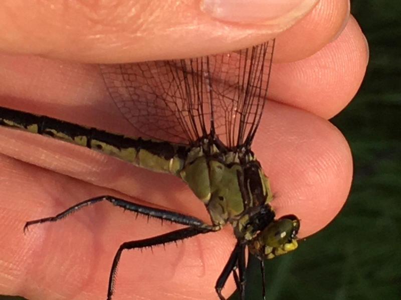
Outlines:
[{"label": "spiny black dragonfly leg stretching farthest left, just below the abdomen", "polygon": [[124,199],[120,199],[114,196],[110,195],[102,195],[94,198],[90,198],[88,200],[82,201],[78,204],[75,204],[74,206],[71,206],[67,208],[66,210],[60,212],[59,214],[55,216],[50,216],[50,217],[45,217],[41,219],[36,219],[36,220],[31,220],[26,222],[24,226],[24,232],[27,230],[27,228],[33,224],[38,224],[38,223],[45,223],[45,222],[55,222],[58,221],[69,214],[76,212],[77,210],[89,206],[92,204],[95,204],[97,202],[101,201],[108,201],[112,203],[113,205],[116,205],[118,207],[122,207],[126,210],[134,211],[138,214],[146,215],[148,217],[154,217],[158,218],[161,220],[167,220],[173,223],[177,224],[182,224],[182,225],[188,225],[191,227],[196,227],[196,228],[213,228],[214,231],[220,230],[221,227],[219,226],[212,226],[204,221],[190,215],[174,212],[174,211],[169,211],[166,209],[160,209],[160,208],[154,208],[146,205],[141,205],[137,203],[133,203]]}]

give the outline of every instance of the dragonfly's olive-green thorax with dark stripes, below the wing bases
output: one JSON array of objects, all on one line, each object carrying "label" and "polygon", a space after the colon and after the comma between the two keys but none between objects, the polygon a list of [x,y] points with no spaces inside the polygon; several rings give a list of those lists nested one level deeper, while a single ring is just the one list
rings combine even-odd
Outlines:
[{"label": "dragonfly's olive-green thorax with dark stripes, below the wing bases", "polygon": [[237,237],[248,239],[256,234],[252,228],[246,228],[249,217],[259,207],[271,208],[269,179],[253,152],[245,148],[222,151],[205,139],[188,152],[179,175],[205,203],[212,222],[232,223]]}]

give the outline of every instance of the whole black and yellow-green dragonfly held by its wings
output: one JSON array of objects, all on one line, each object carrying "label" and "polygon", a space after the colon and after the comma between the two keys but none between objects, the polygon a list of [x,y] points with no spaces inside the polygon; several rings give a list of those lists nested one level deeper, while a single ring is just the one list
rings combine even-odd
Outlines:
[{"label": "whole black and yellow-green dragonfly held by its wings", "polygon": [[246,250],[264,260],[298,247],[300,220],[277,218],[268,176],[251,150],[265,107],[275,40],[230,53],[197,58],[100,65],[110,98],[143,136],[128,137],[56,118],[0,107],[0,125],[115,156],[135,166],[182,179],[205,204],[210,222],[195,216],[141,205],[112,195],[85,199],[54,215],[29,220],[54,222],[98,202],[183,227],[123,242],[111,263],[107,300],[112,300],[121,255],[213,233],[231,224],[236,244],[215,289],[220,300],[233,275],[241,300],[246,290]]}]

